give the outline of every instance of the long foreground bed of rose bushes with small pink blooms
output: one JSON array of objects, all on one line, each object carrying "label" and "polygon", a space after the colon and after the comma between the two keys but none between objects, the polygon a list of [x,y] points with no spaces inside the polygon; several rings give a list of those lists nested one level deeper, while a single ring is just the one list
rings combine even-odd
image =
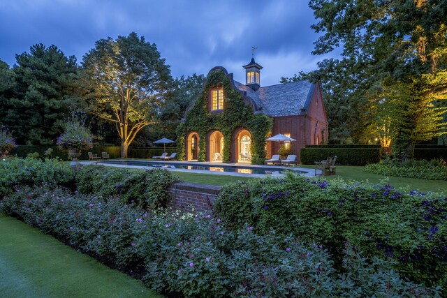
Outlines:
[{"label": "long foreground bed of rose bushes with small pink blooms", "polygon": [[184,297],[438,297],[404,281],[383,262],[346,251],[337,274],[328,251],[292,236],[228,231],[219,218],[153,214],[112,198],[63,188],[21,188],[0,210],[19,216],[116,267],[140,272],[149,288]]}]

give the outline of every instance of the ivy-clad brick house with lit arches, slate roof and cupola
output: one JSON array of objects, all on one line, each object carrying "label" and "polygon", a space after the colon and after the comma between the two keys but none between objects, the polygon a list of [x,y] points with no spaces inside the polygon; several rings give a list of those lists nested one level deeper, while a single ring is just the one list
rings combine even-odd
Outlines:
[{"label": "ivy-clad brick house with lit arches, slate roof and cupola", "polygon": [[[179,136],[184,160],[251,162],[255,154],[258,158],[254,163],[261,163],[279,151],[279,143],[265,142],[265,138],[278,133],[296,140],[286,146],[297,156],[306,145],[328,141],[328,121],[318,82],[261,87],[263,67],[254,59],[242,67],[245,84],[233,80],[233,74],[221,66],[208,73],[201,98],[186,111],[184,133]],[[232,112],[240,114],[231,119]],[[265,115],[269,122],[259,120],[259,115]],[[270,123],[268,131],[260,133],[252,124],[255,122],[266,123],[266,127]]]}]

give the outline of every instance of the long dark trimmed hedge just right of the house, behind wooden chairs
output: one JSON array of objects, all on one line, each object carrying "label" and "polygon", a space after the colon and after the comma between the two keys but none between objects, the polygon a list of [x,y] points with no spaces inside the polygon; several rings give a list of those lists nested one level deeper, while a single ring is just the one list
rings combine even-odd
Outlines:
[{"label": "long dark trimmed hedge just right of the house, behind wooden chairs", "polygon": [[321,148],[301,149],[300,160],[303,165],[314,165],[315,161],[324,161],[329,156],[337,156],[337,165],[367,165],[381,161],[380,147],[374,148]]}]

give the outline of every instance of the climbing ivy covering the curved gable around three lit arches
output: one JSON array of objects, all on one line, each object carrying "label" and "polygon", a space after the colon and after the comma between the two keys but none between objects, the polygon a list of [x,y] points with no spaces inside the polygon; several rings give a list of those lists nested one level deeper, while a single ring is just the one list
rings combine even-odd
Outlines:
[{"label": "climbing ivy covering the curved gable around three lit arches", "polygon": [[[208,110],[210,89],[222,87],[225,96],[223,112],[212,113]],[[254,114],[239,91],[233,89],[230,79],[223,68],[212,70],[205,82],[200,96],[191,110],[186,113],[186,121],[177,126],[177,147],[179,159],[184,160],[186,133],[196,131],[200,138],[198,161],[205,161],[207,133],[221,131],[223,135],[223,162],[230,161],[231,136],[238,128],[251,133],[251,163],[261,164],[265,160],[265,138],[272,130],[272,118],[265,114]]]}]

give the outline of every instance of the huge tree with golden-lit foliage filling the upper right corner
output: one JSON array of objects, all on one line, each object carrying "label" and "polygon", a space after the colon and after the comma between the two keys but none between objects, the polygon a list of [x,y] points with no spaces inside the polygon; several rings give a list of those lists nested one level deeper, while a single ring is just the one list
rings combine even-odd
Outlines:
[{"label": "huge tree with golden-lit foliage filling the upper right corner", "polygon": [[368,74],[356,94],[381,84],[386,92],[377,103],[390,100],[386,94],[399,101],[398,157],[411,157],[416,142],[445,133],[439,100],[447,98],[447,0],[311,0],[309,6],[319,19],[313,28],[323,33],[314,54],[343,47],[342,60]]}]

